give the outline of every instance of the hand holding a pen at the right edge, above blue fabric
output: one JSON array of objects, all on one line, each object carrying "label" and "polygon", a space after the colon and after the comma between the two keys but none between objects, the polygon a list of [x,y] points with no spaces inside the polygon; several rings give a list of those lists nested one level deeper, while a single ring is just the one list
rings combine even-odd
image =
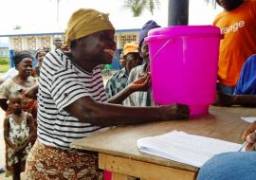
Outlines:
[{"label": "hand holding a pen at the right edge, above blue fabric", "polygon": [[243,140],[247,141],[246,150],[255,150],[256,147],[256,121],[250,124],[243,134]]}]

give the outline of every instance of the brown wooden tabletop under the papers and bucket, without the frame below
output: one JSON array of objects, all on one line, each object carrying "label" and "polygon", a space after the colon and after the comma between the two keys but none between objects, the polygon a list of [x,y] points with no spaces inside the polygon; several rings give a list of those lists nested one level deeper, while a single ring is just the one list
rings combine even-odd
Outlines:
[{"label": "brown wooden tabletop under the papers and bucket, without the frame below", "polygon": [[241,117],[255,116],[256,110],[253,108],[212,106],[210,107],[209,115],[192,117],[189,120],[173,120],[115,127],[105,132],[76,140],[70,146],[71,148],[118,155],[176,169],[198,171],[198,168],[190,165],[147,153],[140,153],[137,150],[137,139],[180,130],[192,135],[203,135],[242,143],[241,136],[248,123],[242,120]]}]

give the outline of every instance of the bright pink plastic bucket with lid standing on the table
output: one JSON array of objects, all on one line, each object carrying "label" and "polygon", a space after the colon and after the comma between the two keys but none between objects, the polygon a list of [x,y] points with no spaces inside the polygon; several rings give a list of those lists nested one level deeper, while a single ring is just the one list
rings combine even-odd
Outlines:
[{"label": "bright pink plastic bucket with lid standing on the table", "polygon": [[145,39],[151,59],[155,104],[187,104],[191,116],[208,114],[216,91],[220,29],[213,26],[155,28]]}]

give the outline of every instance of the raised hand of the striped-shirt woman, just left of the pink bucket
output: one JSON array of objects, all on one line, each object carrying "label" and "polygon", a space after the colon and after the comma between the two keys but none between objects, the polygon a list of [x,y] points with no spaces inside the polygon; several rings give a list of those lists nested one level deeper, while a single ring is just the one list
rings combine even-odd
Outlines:
[{"label": "raised hand of the striped-shirt woman, just left of the pink bucket", "polygon": [[129,84],[129,88],[133,92],[147,91],[150,86],[151,86],[151,76],[149,73]]}]

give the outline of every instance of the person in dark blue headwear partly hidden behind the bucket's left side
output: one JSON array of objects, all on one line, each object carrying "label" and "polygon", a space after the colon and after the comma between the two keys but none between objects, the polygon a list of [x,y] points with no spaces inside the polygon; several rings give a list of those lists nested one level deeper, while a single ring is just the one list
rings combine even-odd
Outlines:
[{"label": "person in dark blue headwear partly hidden behind the bucket's left side", "polygon": [[[127,84],[130,84],[133,81],[136,81],[138,78],[145,76],[147,73],[150,73],[150,59],[149,59],[149,48],[145,43],[144,39],[148,36],[148,32],[151,29],[160,27],[155,21],[148,21],[139,31],[138,36],[138,50],[143,63],[133,68],[130,72]],[[145,92],[136,92],[130,95],[127,99],[123,101],[124,105],[127,106],[152,106],[152,93],[151,87],[148,87]]]}]

